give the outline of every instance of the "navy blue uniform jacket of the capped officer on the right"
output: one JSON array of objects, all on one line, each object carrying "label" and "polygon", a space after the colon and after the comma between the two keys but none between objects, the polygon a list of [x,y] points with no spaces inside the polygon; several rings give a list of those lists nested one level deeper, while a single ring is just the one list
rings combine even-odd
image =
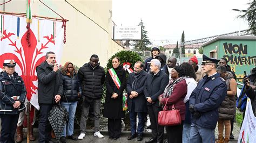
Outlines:
[{"label": "navy blue uniform jacket of the capped officer on the right", "polygon": [[219,119],[218,108],[226,95],[227,85],[220,74],[205,75],[190,96],[190,104],[201,113],[199,118],[192,115],[192,123],[213,130]]}]

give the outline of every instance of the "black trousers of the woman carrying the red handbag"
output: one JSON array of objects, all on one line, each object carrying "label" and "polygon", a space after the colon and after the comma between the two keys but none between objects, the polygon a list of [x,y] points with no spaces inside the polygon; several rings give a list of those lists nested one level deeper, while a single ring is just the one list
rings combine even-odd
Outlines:
[{"label": "black trousers of the woman carrying the red handbag", "polygon": [[181,121],[181,124],[177,126],[165,126],[168,143],[182,142],[183,122]]}]

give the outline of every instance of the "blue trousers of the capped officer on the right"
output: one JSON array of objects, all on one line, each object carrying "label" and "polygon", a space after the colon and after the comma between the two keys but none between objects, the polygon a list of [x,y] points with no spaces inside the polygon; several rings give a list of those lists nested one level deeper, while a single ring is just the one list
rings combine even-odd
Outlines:
[{"label": "blue trousers of the capped officer on the right", "polygon": [[190,130],[190,142],[191,143],[199,143],[199,142],[214,143],[215,142],[214,129],[201,127],[192,123],[191,130]]}]

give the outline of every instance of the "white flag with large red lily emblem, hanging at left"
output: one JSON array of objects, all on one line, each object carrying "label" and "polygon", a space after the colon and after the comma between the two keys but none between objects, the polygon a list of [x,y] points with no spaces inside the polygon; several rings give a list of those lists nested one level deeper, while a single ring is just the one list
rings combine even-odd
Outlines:
[{"label": "white flag with large red lily emblem, hanging at left", "polygon": [[55,52],[57,63],[60,63],[64,38],[63,23],[33,18],[28,31],[26,17],[1,14],[0,17],[0,70],[2,71],[4,60],[15,60],[15,71],[24,80],[26,97],[39,110],[36,67],[45,60],[45,54],[49,51]]}]

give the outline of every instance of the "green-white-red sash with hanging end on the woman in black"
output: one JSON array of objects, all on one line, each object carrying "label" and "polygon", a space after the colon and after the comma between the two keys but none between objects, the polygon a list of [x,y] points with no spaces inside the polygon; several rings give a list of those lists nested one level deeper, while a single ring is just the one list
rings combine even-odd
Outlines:
[{"label": "green-white-red sash with hanging end on the woman in black", "polygon": [[[114,84],[116,84],[117,89],[119,89],[120,86],[121,86],[121,82],[120,82],[120,80],[119,80],[119,78],[118,78],[118,76],[117,76],[116,71],[114,71],[114,69],[111,68],[111,69],[109,69],[109,74],[110,74],[110,76],[112,77],[112,80],[113,80]],[[123,111],[127,110],[127,107],[128,107],[128,106],[127,106],[127,94],[126,94],[126,92],[124,91],[124,92],[123,92]]]}]

